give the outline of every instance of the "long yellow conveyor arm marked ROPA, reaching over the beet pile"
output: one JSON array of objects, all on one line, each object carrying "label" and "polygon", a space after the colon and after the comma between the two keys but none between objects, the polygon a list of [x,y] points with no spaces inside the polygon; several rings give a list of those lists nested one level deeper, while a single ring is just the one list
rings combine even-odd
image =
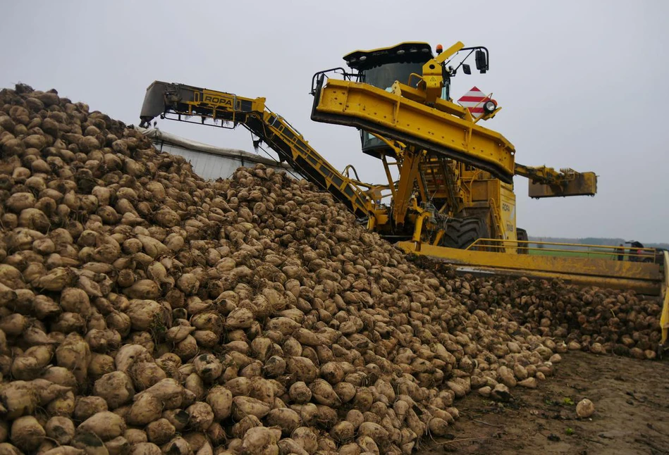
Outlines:
[{"label": "long yellow conveyor arm marked ROPA, reaching over the beet pile", "polygon": [[[156,81],[147,89],[140,118],[145,124],[158,116],[202,124],[206,120],[214,120],[214,123],[221,120],[217,125],[221,127],[228,122],[233,123],[233,127],[241,124],[276,151],[281,161],[287,161],[307,180],[326,189],[356,216],[372,212],[372,202],[364,191],[318,154],[290,123],[266,108],[264,98],[244,98]],[[193,122],[193,117],[201,121]]]}]

